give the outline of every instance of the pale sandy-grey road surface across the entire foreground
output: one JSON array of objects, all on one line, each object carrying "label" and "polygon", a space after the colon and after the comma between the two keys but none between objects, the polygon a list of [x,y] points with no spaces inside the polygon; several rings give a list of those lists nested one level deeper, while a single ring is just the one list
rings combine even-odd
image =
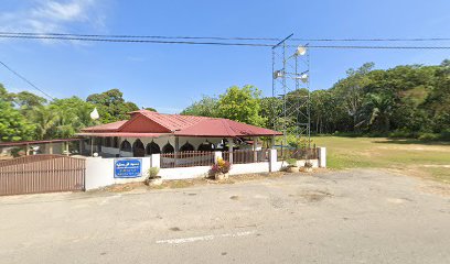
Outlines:
[{"label": "pale sandy-grey road surface across the entire foreground", "polygon": [[379,170],[0,197],[0,263],[450,263],[450,195]]}]

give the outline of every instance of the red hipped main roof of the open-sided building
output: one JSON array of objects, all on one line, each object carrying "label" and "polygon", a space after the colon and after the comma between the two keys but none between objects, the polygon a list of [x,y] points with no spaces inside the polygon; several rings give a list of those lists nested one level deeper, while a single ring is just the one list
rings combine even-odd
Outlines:
[{"label": "red hipped main roof of the open-sided building", "polygon": [[264,136],[282,133],[228,119],[158,113],[148,110],[131,112],[131,119],[83,129],[78,135],[157,138],[179,136]]}]

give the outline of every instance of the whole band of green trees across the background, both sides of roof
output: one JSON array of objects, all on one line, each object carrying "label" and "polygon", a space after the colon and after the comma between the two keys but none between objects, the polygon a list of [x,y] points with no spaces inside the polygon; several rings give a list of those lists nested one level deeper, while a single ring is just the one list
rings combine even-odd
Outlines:
[{"label": "whole band of green trees across the background, both sides of roof", "polygon": [[[296,100],[307,94],[300,89],[287,98]],[[95,107],[100,113],[98,121],[89,117]],[[8,92],[0,84],[0,141],[73,136],[84,127],[122,120],[128,118],[127,112],[138,109],[118,89],[90,95],[86,100],[71,97],[47,101],[28,91]],[[182,114],[228,118],[272,128],[285,121],[277,118],[280,111],[280,99],[261,98],[254,86],[233,86],[218,97],[203,97]],[[300,119],[302,123],[307,121]],[[291,128],[296,123],[286,121]],[[392,69],[374,69],[368,63],[349,69],[330,89],[311,92],[311,131],[449,140],[450,61]]]}]

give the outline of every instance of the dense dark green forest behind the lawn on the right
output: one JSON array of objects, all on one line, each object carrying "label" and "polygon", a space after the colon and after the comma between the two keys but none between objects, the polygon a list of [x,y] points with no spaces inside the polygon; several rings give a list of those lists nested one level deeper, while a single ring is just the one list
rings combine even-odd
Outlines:
[{"label": "dense dark green forest behind the lawn on the right", "polygon": [[331,89],[312,92],[314,132],[450,132],[450,61],[372,68],[350,69]]}]

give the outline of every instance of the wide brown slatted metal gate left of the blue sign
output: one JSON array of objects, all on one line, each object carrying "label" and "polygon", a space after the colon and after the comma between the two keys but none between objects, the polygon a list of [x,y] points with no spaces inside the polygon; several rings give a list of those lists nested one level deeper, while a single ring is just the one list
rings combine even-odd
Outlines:
[{"label": "wide brown slatted metal gate left of the blue sign", "polygon": [[0,162],[0,196],[84,190],[86,163],[63,155],[32,155]]}]

